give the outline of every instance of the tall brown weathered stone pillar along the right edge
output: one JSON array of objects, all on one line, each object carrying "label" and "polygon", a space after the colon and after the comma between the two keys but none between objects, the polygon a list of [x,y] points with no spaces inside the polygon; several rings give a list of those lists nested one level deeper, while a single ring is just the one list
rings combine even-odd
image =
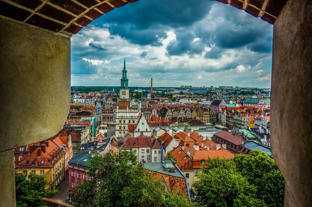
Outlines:
[{"label": "tall brown weathered stone pillar along the right edge", "polygon": [[312,201],[312,1],[288,0],[274,24],[272,150],[286,180],[285,207]]}]

